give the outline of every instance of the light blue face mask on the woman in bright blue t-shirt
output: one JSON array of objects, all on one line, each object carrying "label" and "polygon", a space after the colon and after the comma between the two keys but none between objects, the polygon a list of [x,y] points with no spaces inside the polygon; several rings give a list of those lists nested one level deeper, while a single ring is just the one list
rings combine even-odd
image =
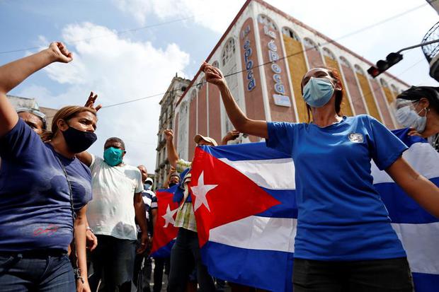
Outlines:
[{"label": "light blue face mask on the woman in bright blue t-shirt", "polygon": [[303,88],[305,103],[312,107],[322,107],[333,95],[333,85],[327,78],[311,77]]}]

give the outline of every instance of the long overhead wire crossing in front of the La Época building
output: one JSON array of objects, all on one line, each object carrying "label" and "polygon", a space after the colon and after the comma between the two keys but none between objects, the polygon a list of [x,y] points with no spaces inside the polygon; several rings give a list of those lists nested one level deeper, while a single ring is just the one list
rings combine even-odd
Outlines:
[{"label": "long overhead wire crossing in front of the La \u00c9poca building", "polygon": [[[431,2],[434,2],[434,1],[439,1],[439,0],[433,0],[433,1],[431,1]],[[348,33],[348,34],[346,34],[346,35],[342,35],[341,37],[338,37],[338,38],[336,38],[335,40],[331,40],[331,41],[329,41],[329,42],[324,42],[323,44],[319,45],[319,47],[323,47],[323,46],[325,46],[325,45],[332,44],[333,42],[337,42],[338,40],[341,40],[341,39],[343,39],[343,38],[350,37],[350,36],[352,36],[352,35],[356,35],[356,34],[358,34],[358,33],[362,33],[362,32],[365,31],[365,30],[369,30],[370,28],[374,28],[374,27],[377,26],[377,25],[381,25],[382,23],[386,23],[387,21],[391,21],[391,20],[393,20],[393,19],[395,19],[395,18],[399,18],[399,17],[401,17],[401,16],[404,16],[404,15],[406,15],[407,13],[411,13],[411,12],[413,12],[413,11],[416,11],[417,9],[419,9],[419,8],[421,8],[421,7],[423,7],[423,6],[426,6],[426,5],[428,5],[428,3],[425,3],[425,4],[422,4],[422,5],[416,6],[416,7],[414,7],[414,8],[410,8],[410,9],[407,10],[407,11],[404,11],[404,12],[398,13],[398,14],[396,14],[396,15],[394,15],[394,16],[391,16],[391,17],[389,17],[389,18],[386,18],[386,19],[384,19],[384,20],[382,20],[382,21],[379,21],[379,22],[377,22],[377,23],[374,23],[374,24],[372,24],[372,25],[367,25],[367,26],[365,26],[364,28],[360,28],[360,29],[358,29],[358,30],[354,30],[353,32]],[[307,51],[312,50],[312,49],[315,49],[315,47],[309,47],[309,48],[306,48],[306,49],[302,49],[302,50],[300,50],[300,51],[298,51],[298,52],[295,52],[295,53],[292,53],[292,54],[289,54],[289,55],[286,55],[286,56],[280,57],[280,58],[278,59],[278,61],[283,60],[283,59],[287,59],[287,58],[290,58],[290,57],[294,57],[294,56],[296,56],[297,54],[302,54],[302,53],[307,52]],[[421,61],[422,61],[422,60],[421,60]],[[421,62],[421,61],[419,61],[419,62]],[[418,64],[419,62],[416,62],[416,64]],[[261,67],[261,66],[266,66],[266,65],[268,65],[268,64],[273,64],[273,62],[266,62],[266,63],[263,63],[263,64],[258,64],[258,65],[256,65],[256,66],[253,66],[253,68],[258,68],[258,67]],[[415,65],[416,65],[416,64],[415,64]],[[251,69],[253,69],[253,68],[251,68]],[[251,69],[250,69],[250,70],[251,70]],[[410,67],[409,69],[411,69],[411,67]],[[407,69],[407,70],[409,70],[409,69]],[[227,78],[227,77],[229,77],[229,76],[234,76],[234,75],[236,75],[236,74],[240,74],[240,73],[243,73],[243,72],[246,72],[246,71],[248,71],[248,70],[247,70],[247,69],[243,69],[243,70],[241,70],[241,71],[232,72],[231,74],[224,75],[224,78]],[[405,71],[404,71],[404,72],[405,72]],[[394,80],[395,78],[397,78],[397,77],[392,77],[391,80]],[[204,83],[205,83],[205,82],[204,82]],[[188,86],[186,90],[188,90],[189,88],[192,88],[193,86],[202,86],[204,83],[203,83],[203,82],[200,82],[200,83],[193,84],[193,85],[191,85],[191,86]],[[125,104],[127,104],[127,103],[135,103],[135,102],[137,102],[137,101],[139,101],[139,100],[146,100],[146,99],[149,99],[149,98],[155,98],[155,97],[157,97],[157,96],[165,95],[165,94],[167,94],[167,93],[173,93],[174,91],[178,91],[178,90],[180,90],[180,89],[168,90],[168,91],[165,91],[164,93],[157,93],[157,94],[154,94],[154,95],[146,96],[146,97],[144,97],[144,98],[136,98],[136,99],[133,99],[133,100],[127,100],[127,101],[124,101],[124,102],[122,102],[122,103],[114,103],[114,104],[112,104],[112,105],[106,105],[106,106],[103,106],[102,108],[115,107],[115,106],[118,106],[118,105],[125,105]]]}]

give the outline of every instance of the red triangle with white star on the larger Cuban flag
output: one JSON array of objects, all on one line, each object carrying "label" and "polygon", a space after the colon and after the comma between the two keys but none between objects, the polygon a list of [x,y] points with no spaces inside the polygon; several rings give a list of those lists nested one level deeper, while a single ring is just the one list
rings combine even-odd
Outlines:
[{"label": "red triangle with white star on the larger Cuban flag", "polygon": [[200,147],[195,149],[191,173],[190,189],[200,247],[209,240],[210,229],[280,204],[249,177]]}]

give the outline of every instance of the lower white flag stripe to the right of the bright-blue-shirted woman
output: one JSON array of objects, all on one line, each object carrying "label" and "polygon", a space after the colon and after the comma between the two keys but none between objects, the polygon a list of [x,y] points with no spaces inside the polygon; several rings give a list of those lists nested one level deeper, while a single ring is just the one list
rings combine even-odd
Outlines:
[{"label": "lower white flag stripe to the right of the bright-blue-shirted woman", "polygon": [[439,274],[439,222],[392,223],[392,227],[404,245],[411,271]]}]

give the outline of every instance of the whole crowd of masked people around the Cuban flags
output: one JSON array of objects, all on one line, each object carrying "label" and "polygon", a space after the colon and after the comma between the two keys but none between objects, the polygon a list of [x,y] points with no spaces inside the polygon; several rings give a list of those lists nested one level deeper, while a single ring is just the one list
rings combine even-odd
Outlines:
[{"label": "whole crowd of masked people around the Cuban flags", "polygon": [[[171,169],[162,187],[178,185],[178,235],[171,257],[152,259],[157,199],[147,169],[124,163],[127,149],[118,137],[106,140],[102,158],[86,151],[97,139],[97,95],[84,106],[60,109],[50,129],[42,112],[8,102],[6,93],[35,71],[71,61],[67,47],[53,42],[0,67],[1,289],[156,292],[164,274],[171,292],[224,287],[200,255],[191,162],[178,156],[172,129],[164,130]],[[290,123],[246,117],[220,69],[205,63],[200,70],[220,90],[236,129],[220,144],[245,133],[294,160],[300,182],[294,290],[413,291],[406,252],[372,186],[370,161],[433,216],[439,216],[439,189],[406,163],[401,155],[407,147],[380,122],[343,116],[338,72],[321,67],[303,76],[309,122]],[[428,139],[439,152],[439,88],[413,86],[398,96],[394,110],[409,135]],[[218,146],[208,136],[193,139],[197,146]]]}]

